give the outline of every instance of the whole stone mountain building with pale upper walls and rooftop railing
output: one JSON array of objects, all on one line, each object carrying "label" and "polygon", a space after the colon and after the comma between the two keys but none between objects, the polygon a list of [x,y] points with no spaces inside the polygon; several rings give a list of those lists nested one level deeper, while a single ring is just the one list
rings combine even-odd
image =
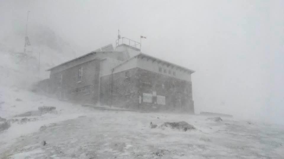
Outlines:
[{"label": "whole stone mountain building with pale upper walls and rooftop railing", "polygon": [[138,42],[119,40],[115,49],[107,45],[50,68],[49,93],[88,104],[194,113],[193,70],[141,53]]}]

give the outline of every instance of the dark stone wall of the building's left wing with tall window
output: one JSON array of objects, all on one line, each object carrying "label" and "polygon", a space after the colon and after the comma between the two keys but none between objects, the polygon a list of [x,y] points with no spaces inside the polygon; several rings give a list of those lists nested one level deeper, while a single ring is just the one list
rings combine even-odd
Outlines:
[{"label": "dark stone wall of the building's left wing with tall window", "polygon": [[[80,68],[83,71],[81,80],[78,81]],[[66,70],[51,72],[49,93],[55,94],[60,99],[96,103],[99,101],[99,71],[100,61],[94,59]]]}]

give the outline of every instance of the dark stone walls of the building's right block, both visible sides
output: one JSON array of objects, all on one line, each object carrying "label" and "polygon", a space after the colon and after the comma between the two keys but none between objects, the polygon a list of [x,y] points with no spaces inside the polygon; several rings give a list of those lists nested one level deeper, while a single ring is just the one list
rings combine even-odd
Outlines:
[{"label": "dark stone walls of the building's right block, both visible sides", "polygon": [[[133,68],[101,77],[101,105],[145,111],[186,111],[194,113],[190,81]],[[143,102],[143,93],[165,97],[165,105]],[[139,100],[140,98],[140,100]]]}]

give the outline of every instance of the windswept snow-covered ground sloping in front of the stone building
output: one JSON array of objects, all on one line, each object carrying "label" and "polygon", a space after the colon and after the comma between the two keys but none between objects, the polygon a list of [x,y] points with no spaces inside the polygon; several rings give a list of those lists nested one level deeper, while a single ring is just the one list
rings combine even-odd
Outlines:
[{"label": "windswept snow-covered ground sloping in front of the stone building", "polygon": [[[2,131],[0,158],[284,158],[284,127],[280,125],[96,110],[10,87],[1,88],[0,102],[0,116],[7,119],[39,106],[57,110],[28,117],[35,120],[26,123],[12,123]],[[151,121],[158,128],[151,129]],[[196,130],[159,128],[169,121],[186,121]]]}]

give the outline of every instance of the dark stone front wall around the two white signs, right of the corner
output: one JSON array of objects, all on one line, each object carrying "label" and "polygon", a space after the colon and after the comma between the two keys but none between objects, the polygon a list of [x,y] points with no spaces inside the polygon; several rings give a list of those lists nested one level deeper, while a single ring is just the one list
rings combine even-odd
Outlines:
[{"label": "dark stone front wall around the two white signs, right of the corner", "polygon": [[[186,111],[194,113],[192,84],[178,78],[165,76],[138,68],[138,98],[141,97],[140,110]],[[152,94],[153,102],[143,102],[143,93]],[[157,96],[165,97],[165,105],[157,103]]]}]

